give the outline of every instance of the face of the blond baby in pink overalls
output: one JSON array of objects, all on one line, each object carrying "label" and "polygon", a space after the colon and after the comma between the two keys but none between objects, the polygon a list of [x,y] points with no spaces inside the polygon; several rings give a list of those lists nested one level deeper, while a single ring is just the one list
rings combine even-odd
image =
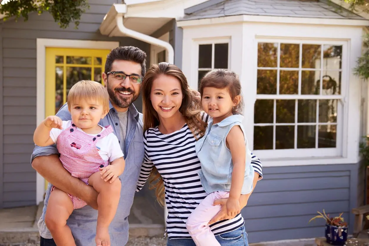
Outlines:
[{"label": "face of the blond baby in pink overalls", "polygon": [[100,129],[97,124],[107,114],[103,104],[92,98],[76,100],[68,106],[73,123],[87,133]]}]

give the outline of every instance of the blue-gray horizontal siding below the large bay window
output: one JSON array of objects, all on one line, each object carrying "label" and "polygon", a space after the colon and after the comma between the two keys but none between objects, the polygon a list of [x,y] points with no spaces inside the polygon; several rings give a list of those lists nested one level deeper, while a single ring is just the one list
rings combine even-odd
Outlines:
[{"label": "blue-gray horizontal siding below the large bay window", "polygon": [[[356,206],[359,164],[264,167],[247,206],[242,210],[249,242],[324,236],[325,211],[344,212],[350,225]],[[350,230],[352,227],[350,228]]]}]

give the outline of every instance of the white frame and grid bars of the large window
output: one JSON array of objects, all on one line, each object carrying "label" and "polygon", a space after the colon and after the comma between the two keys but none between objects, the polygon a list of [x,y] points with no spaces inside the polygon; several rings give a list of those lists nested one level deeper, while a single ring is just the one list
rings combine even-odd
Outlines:
[{"label": "white frame and grid bars of the large window", "polygon": [[[286,69],[279,67],[280,60],[280,45],[278,45],[278,53],[277,53],[277,71],[279,70],[298,70],[299,71],[299,94],[257,94],[256,86],[255,86],[255,100],[258,99],[337,99],[337,128],[336,128],[336,148],[310,148],[310,149],[270,149],[270,150],[255,150],[254,153],[258,156],[262,156],[263,159],[282,159],[282,158],[311,158],[311,157],[345,157],[346,149],[347,149],[347,141],[343,141],[343,139],[347,139],[347,122],[348,122],[348,104],[346,103],[348,90],[349,90],[349,70],[348,70],[348,61],[349,61],[349,53],[348,48],[349,44],[347,41],[341,40],[313,40],[313,39],[283,39],[283,38],[257,38],[255,40],[255,50],[256,50],[256,58],[258,59],[258,43],[284,43],[284,44],[300,44],[300,57],[299,57],[299,68],[298,69]],[[323,62],[323,45],[342,45],[342,66],[341,66],[341,94],[340,95],[300,95],[301,93],[301,70],[316,70],[319,72],[324,71],[323,66],[320,69],[302,69],[301,68],[301,59],[302,59],[302,44],[320,44],[321,47],[321,60]],[[254,74],[254,83],[257,82],[257,71],[258,64],[255,64],[255,74]],[[268,69],[268,68],[262,68]],[[273,68],[275,69],[275,68]],[[320,81],[322,81],[323,73],[320,73]],[[322,91],[323,83],[320,83],[320,91]],[[277,76],[277,91],[279,91],[279,76]],[[247,103],[247,102],[246,102]],[[297,105],[297,104],[296,104]],[[274,105],[275,107],[275,105]],[[317,104],[318,108],[318,104]],[[274,108],[275,111],[275,108]],[[273,112],[274,112],[273,111]],[[274,114],[274,113],[273,113]],[[317,111],[318,114],[318,111]],[[254,114],[252,114],[254,118]],[[318,115],[317,115],[318,117]],[[250,132],[249,138],[251,145],[250,149],[254,146],[254,126],[262,126],[262,125],[273,125],[273,147],[275,146],[275,117],[273,117],[273,124],[252,124],[252,133]],[[297,122],[297,109],[295,107],[295,123],[288,123],[286,125],[299,125]],[[254,122],[254,120],[252,120]],[[309,125],[309,124],[301,124],[301,125]],[[311,125],[316,125],[316,123],[311,123]],[[318,123],[318,125],[320,125]],[[328,125],[325,123],[321,123],[321,125]],[[297,139],[297,128],[295,127],[295,139]],[[315,132],[318,134],[318,131]],[[315,138],[316,139],[316,138]],[[317,140],[316,140],[317,141]],[[296,141],[294,143],[296,147]],[[316,143],[317,146],[317,143]]]}]

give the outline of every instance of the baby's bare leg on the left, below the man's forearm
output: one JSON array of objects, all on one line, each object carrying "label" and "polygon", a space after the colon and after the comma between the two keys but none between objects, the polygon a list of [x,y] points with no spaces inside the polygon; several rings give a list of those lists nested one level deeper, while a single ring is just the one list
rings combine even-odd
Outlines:
[{"label": "baby's bare leg on the left, below the man's forearm", "polygon": [[64,191],[55,188],[50,194],[45,223],[56,245],[76,245],[67,219],[73,212],[73,203]]}]

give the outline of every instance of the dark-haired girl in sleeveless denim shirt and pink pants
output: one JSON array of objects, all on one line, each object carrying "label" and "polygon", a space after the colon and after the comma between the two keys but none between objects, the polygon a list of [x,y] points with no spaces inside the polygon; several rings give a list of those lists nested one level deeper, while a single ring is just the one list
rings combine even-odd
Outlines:
[{"label": "dark-haired girl in sleeveless denim shirt and pink pants", "polygon": [[200,94],[203,110],[212,117],[204,137],[196,142],[201,162],[199,176],[208,195],[189,216],[186,227],[197,246],[220,246],[208,226],[220,211],[213,202],[228,198],[228,216],[239,214],[241,194],[253,189],[254,168],[242,126],[241,83],[237,75],[225,69],[207,73],[201,79]]}]

